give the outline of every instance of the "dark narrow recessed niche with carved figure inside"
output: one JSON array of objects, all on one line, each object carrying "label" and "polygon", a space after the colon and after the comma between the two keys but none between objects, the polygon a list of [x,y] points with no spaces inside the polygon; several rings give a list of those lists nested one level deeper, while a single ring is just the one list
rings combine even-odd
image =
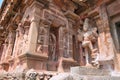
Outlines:
[{"label": "dark narrow recessed niche with carved figure inside", "polygon": [[51,27],[49,33],[49,60],[57,61],[59,55],[59,28]]}]

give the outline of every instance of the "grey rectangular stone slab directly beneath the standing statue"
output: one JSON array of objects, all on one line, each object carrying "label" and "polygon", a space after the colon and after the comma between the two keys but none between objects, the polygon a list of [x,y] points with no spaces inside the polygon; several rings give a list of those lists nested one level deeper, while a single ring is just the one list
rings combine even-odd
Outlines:
[{"label": "grey rectangular stone slab directly beneath the standing statue", "polygon": [[71,67],[71,73],[79,75],[96,75],[96,76],[109,76],[110,71],[106,69],[96,69],[90,67]]}]

